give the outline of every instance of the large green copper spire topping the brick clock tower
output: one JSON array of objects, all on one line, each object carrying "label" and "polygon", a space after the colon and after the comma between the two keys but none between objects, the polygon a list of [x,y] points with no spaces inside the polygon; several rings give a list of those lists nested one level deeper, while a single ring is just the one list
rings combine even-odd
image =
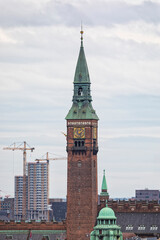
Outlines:
[{"label": "large green copper spire topping the brick clock tower", "polygon": [[90,78],[87,61],[83,47],[83,31],[81,29],[81,46],[74,75],[73,105],[66,116],[66,119],[96,119],[98,116],[92,107]]}]

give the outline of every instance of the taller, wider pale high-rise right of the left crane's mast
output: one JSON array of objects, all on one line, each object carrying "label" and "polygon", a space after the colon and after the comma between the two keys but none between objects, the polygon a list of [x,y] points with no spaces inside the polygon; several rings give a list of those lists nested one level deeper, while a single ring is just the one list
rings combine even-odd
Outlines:
[{"label": "taller, wider pale high-rise right of the left crane's mast", "polygon": [[48,220],[48,162],[28,163],[28,220]]}]

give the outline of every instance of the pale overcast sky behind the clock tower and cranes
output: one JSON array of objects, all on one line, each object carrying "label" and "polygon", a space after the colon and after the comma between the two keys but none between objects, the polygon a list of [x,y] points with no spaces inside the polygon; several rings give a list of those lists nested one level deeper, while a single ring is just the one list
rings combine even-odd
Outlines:
[{"label": "pale overcast sky behind the clock tower and cranes", "polygon": [[[111,197],[160,189],[160,1],[0,0],[0,190],[14,196],[22,151],[66,156],[65,116],[83,21],[99,120],[98,185]],[[50,162],[50,197],[65,197],[67,163]]]}]

